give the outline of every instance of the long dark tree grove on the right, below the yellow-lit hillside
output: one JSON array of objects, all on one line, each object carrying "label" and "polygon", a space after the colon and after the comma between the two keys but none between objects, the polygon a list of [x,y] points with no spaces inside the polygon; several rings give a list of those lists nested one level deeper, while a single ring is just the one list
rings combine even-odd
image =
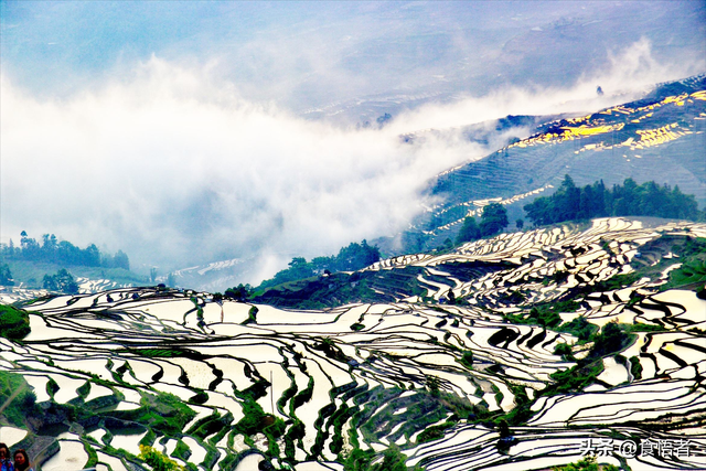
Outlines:
[{"label": "long dark tree grove on the right, below the yellow-lit hillside", "polygon": [[622,185],[607,189],[603,181],[584,188],[576,186],[569,175],[550,196],[538,197],[524,206],[535,225],[608,216],[655,216],[697,221],[704,217],[694,195],[678,186],[645,182],[641,185],[627,179]]}]

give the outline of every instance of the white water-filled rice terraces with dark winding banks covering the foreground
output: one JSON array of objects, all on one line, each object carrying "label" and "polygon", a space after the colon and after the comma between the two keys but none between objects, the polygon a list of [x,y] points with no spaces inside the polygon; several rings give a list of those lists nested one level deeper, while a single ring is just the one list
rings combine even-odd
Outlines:
[{"label": "white water-filled rice terraces with dark winding banks covering the foreground", "polygon": [[[0,439],[44,470],[150,469],[140,445],[203,470],[531,470],[608,442],[623,469],[703,469],[704,237],[620,218],[503,234],[350,274],[359,301],[320,310],[39,299],[30,334],[0,339]],[[646,440],[681,448],[630,451]]]}]

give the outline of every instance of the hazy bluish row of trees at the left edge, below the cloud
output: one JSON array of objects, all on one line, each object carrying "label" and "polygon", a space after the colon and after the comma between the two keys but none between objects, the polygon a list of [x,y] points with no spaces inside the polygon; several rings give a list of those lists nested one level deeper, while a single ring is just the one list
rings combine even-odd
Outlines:
[{"label": "hazy bluish row of trees at the left edge, below the cloud", "polygon": [[63,266],[103,267],[130,269],[130,260],[122,250],[115,255],[101,253],[95,244],[78,248],[67,240],[58,240],[54,234],[44,234],[42,243],[30,237],[25,231],[20,234],[20,246],[12,239],[0,245],[0,254],[8,260],[29,260]]}]

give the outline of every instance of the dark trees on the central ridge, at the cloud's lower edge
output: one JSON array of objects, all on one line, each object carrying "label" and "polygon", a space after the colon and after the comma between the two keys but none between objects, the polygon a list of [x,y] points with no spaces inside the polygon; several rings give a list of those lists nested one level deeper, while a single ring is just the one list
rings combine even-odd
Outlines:
[{"label": "dark trees on the central ridge, at the cloud's lower edge", "polygon": [[331,257],[315,257],[307,261],[303,257],[295,257],[289,263],[289,268],[284,269],[269,280],[260,283],[257,290],[270,288],[289,281],[310,278],[319,275],[330,275],[335,271],[354,271],[365,268],[381,259],[379,249],[367,245],[352,243],[341,248],[339,255]]}]

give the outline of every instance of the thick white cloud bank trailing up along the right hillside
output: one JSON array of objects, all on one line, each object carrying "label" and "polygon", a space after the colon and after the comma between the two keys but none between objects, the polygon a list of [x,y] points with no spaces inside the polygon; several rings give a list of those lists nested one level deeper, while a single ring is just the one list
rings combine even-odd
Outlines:
[{"label": "thick white cloud bank trailing up along the right hillside", "polygon": [[404,229],[430,176],[494,150],[460,132],[415,144],[400,133],[593,110],[680,72],[652,61],[641,42],[566,89],[496,90],[362,130],[254,104],[211,66],[156,57],[63,99],[35,98],[2,77],[2,239],[54,233],[168,269],[254,255],[271,270],[292,254],[333,254]]}]

